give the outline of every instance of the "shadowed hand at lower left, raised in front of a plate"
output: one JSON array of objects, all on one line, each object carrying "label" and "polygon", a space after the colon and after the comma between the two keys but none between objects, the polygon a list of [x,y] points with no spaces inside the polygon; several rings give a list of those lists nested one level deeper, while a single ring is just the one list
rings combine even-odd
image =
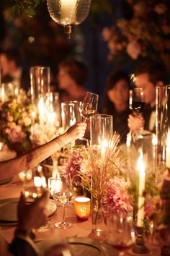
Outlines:
[{"label": "shadowed hand at lower left, raised in front of a plate", "polygon": [[45,190],[42,196],[30,205],[26,205],[26,200],[23,194],[20,196],[18,205],[18,229],[31,231],[47,223],[47,214],[45,208],[50,197],[50,192]]}]

